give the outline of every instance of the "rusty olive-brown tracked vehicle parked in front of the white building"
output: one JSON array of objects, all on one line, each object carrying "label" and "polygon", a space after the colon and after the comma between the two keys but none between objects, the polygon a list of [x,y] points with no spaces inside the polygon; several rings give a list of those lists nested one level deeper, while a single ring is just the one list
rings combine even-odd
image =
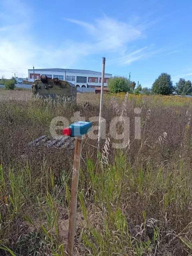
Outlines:
[{"label": "rusty olive-brown tracked vehicle parked in front of the white building", "polygon": [[59,80],[58,78],[48,78],[42,75],[40,79],[32,83],[33,96],[43,96],[56,98],[57,96],[65,97],[71,102],[77,101],[77,88],[74,84]]}]

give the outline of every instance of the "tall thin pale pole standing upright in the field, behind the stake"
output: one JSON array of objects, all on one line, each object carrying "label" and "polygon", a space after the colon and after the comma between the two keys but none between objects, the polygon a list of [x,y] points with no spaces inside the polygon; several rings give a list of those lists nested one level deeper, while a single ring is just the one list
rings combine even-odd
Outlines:
[{"label": "tall thin pale pole standing upright in the field, behind the stake", "polygon": [[101,95],[100,95],[100,110],[99,110],[99,132],[98,132],[98,150],[100,150],[101,144],[101,116],[103,108],[103,86],[104,86],[104,77],[105,77],[105,57],[102,58],[102,77],[101,77]]}]

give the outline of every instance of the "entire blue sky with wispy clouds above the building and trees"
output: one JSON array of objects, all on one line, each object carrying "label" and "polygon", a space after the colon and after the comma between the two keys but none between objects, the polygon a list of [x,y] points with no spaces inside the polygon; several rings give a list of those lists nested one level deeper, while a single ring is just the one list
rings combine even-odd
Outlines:
[{"label": "entire blue sky with wispy clouds above the building and trees", "polygon": [[192,80],[192,1],[0,0],[0,77],[75,68],[151,87],[161,72]]}]

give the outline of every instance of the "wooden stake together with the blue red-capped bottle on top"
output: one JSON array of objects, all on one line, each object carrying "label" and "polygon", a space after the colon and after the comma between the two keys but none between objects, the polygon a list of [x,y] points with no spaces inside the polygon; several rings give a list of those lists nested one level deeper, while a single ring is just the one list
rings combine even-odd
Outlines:
[{"label": "wooden stake together with the blue red-capped bottle on top", "polygon": [[90,122],[78,121],[63,129],[63,134],[75,138],[75,152],[73,162],[73,174],[71,182],[71,202],[69,215],[69,230],[67,242],[67,255],[73,256],[74,252],[74,237],[75,237],[75,222],[77,213],[77,189],[79,181],[79,168],[81,160],[82,136],[90,131],[92,124]]}]

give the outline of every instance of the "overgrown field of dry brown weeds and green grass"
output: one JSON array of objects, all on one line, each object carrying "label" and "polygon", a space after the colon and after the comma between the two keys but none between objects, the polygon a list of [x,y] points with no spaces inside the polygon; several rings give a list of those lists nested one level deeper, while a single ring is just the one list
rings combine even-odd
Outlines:
[{"label": "overgrown field of dry brown weeds and green grass", "polygon": [[[48,135],[54,117],[99,116],[99,100],[80,93],[70,105],[0,89],[0,255],[65,255],[73,149],[29,142]],[[192,255],[191,114],[190,98],[104,95],[101,153],[97,140],[83,140],[74,255]],[[116,116],[130,118],[123,149],[109,133]]]}]

